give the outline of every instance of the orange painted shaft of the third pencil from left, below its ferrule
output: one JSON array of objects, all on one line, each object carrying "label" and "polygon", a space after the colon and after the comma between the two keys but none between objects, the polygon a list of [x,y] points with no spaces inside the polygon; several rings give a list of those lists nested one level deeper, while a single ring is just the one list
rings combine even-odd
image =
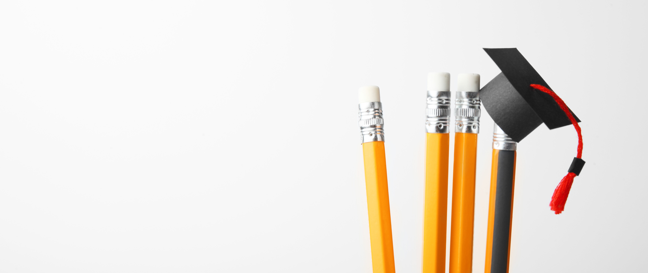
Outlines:
[{"label": "orange painted shaft of the third pencil from left, below its ferrule", "polygon": [[450,221],[450,273],[472,272],[477,134],[455,133]]}]

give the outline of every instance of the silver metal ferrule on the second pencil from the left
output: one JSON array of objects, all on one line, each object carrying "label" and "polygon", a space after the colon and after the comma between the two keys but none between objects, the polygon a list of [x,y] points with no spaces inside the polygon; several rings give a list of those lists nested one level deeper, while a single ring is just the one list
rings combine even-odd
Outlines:
[{"label": "silver metal ferrule on the second pencil from the left", "polygon": [[426,114],[426,132],[450,133],[450,91],[428,91]]}]

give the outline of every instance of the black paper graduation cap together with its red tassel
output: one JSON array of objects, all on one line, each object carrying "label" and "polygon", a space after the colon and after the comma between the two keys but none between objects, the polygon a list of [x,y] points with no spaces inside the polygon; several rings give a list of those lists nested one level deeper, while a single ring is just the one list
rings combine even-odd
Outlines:
[{"label": "black paper graduation cap together with its red tassel", "polygon": [[573,178],[585,164],[581,159],[583,137],[581,122],[540,74],[517,49],[484,49],[502,71],[480,90],[481,104],[495,124],[515,142],[520,142],[540,124],[549,129],[573,125],[578,133],[577,156],[568,174],[561,180],[551,197],[550,208],[556,214],[564,210]]}]

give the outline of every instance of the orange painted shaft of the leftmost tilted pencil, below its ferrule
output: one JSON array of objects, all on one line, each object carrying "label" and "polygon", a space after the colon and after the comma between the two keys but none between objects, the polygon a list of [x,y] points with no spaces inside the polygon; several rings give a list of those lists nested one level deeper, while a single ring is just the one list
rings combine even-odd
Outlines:
[{"label": "orange painted shaft of the leftmost tilted pencil, below its ferrule", "polygon": [[385,163],[385,142],[362,144],[369,209],[371,262],[374,273],[393,273],[394,248],[391,239],[391,216]]}]

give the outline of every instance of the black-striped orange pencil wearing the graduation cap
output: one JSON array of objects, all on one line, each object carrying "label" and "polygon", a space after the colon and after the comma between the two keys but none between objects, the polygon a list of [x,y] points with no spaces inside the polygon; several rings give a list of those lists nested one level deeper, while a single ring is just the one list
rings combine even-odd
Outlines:
[{"label": "black-striped orange pencil wearing the graduation cap", "polygon": [[509,272],[517,143],[495,124],[492,133],[491,196],[485,273]]}]

